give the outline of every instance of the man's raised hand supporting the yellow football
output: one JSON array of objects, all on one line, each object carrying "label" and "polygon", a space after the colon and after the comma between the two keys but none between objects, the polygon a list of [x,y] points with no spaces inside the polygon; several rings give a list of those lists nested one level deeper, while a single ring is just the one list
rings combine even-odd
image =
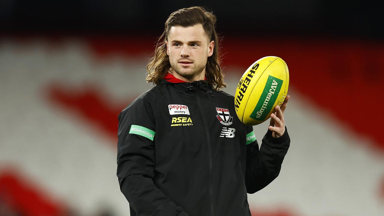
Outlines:
[{"label": "man's raised hand supporting the yellow football", "polygon": [[285,100],[283,104],[281,105],[281,108],[279,105],[275,107],[276,111],[275,113],[271,114],[271,120],[269,122],[268,130],[272,131],[272,136],[274,138],[278,138],[282,136],[285,132],[285,123],[284,123],[284,111],[287,107],[287,103],[290,96],[287,95],[285,97]]}]

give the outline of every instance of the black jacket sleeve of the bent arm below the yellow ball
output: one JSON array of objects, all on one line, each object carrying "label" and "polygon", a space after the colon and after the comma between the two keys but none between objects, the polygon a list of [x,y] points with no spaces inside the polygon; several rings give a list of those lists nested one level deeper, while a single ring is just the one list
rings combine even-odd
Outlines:
[{"label": "black jacket sleeve of the bent arm below the yellow ball", "polygon": [[[253,136],[252,136],[253,135]],[[255,193],[271,183],[280,173],[281,164],[290,146],[287,128],[279,138],[273,138],[268,130],[260,150],[252,126],[247,126],[247,165],[245,185],[247,193]],[[249,143],[248,143],[249,142]]]}]

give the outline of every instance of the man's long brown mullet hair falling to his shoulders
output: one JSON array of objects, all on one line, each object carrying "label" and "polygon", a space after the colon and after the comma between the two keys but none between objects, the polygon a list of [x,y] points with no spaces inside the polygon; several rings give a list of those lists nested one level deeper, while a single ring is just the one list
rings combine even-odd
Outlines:
[{"label": "man's long brown mullet hair falling to his shoulders", "polygon": [[214,52],[208,57],[207,65],[205,65],[205,76],[207,82],[215,86],[216,90],[225,88],[224,75],[221,72],[220,63],[221,56],[219,53],[219,41],[215,30],[216,17],[213,13],[207,12],[203,7],[183,8],[171,13],[165,22],[164,32],[157,41],[154,56],[147,65],[148,75],[147,82],[159,84],[166,73],[170,71],[169,56],[167,55],[166,40],[170,28],[173,26],[190,27],[196,24],[202,24],[205,33],[207,33],[210,41],[214,41]]}]

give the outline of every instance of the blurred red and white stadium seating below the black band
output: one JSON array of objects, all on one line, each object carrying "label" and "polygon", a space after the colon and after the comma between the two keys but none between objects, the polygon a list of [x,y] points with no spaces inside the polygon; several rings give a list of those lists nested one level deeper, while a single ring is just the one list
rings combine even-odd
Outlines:
[{"label": "blurred red and white stadium seating below the black band", "polygon": [[[154,41],[0,40],[3,215],[129,215],[116,177],[117,116],[152,87],[144,79]],[[290,150],[280,176],[248,194],[252,215],[384,215],[384,44],[225,38],[222,46],[232,95],[263,56],[290,69]],[[259,143],[267,124],[254,126]]]}]

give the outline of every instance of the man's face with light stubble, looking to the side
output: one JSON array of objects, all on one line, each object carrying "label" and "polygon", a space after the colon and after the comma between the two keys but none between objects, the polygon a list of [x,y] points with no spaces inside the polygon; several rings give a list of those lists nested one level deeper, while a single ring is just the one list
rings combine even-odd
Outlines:
[{"label": "man's face with light stubble, looking to the side", "polygon": [[193,80],[205,74],[205,65],[213,53],[214,41],[209,40],[202,24],[171,27],[167,39],[170,66],[177,75]]}]

